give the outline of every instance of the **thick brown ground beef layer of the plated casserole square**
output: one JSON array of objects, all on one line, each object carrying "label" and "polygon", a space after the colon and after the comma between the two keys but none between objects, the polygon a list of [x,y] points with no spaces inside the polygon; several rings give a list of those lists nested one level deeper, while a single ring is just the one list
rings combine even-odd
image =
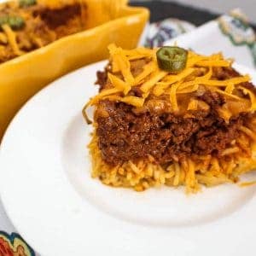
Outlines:
[{"label": "thick brown ground beef layer of the plated casserole square", "polygon": [[227,124],[214,111],[216,104],[223,103],[221,96],[207,92],[201,97],[212,108],[196,111],[190,118],[170,112],[137,113],[125,103],[102,101],[102,108],[108,112],[104,117],[96,114],[102,159],[117,165],[145,159],[149,154],[160,164],[191,154],[219,157],[238,136],[237,127],[245,122],[247,114],[241,113]]}]

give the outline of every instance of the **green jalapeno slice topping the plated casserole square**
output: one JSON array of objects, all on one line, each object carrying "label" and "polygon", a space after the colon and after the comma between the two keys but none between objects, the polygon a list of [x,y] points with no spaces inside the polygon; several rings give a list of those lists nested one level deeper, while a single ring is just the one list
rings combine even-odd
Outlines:
[{"label": "green jalapeno slice topping the plated casserole square", "polygon": [[156,52],[160,69],[178,73],[186,67],[188,52],[177,46],[163,46]]}]

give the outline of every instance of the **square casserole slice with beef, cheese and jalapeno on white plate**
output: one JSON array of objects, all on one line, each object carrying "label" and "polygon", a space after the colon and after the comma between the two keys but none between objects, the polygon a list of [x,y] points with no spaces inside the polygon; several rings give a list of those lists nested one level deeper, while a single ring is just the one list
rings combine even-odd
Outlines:
[{"label": "square casserole slice with beef, cheese and jalapeno on white plate", "polygon": [[[256,89],[223,55],[120,49],[97,73],[92,176],[141,191],[236,183],[256,167]],[[87,119],[88,120],[88,119]]]}]

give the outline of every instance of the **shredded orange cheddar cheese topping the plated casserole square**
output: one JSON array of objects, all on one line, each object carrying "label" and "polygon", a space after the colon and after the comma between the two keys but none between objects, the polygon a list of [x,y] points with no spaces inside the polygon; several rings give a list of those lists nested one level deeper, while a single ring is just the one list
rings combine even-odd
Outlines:
[{"label": "shredded orange cheddar cheese topping the plated casserole square", "polygon": [[[125,102],[136,108],[142,108],[151,97],[167,97],[172,106],[172,111],[179,111],[178,98],[191,95],[187,103],[188,110],[207,110],[210,108],[206,102],[193,97],[193,94],[206,90],[215,91],[227,100],[241,101],[242,94],[251,101],[251,110],[256,110],[256,97],[253,91],[242,86],[250,80],[248,75],[238,75],[230,79],[216,79],[214,68],[230,68],[232,60],[225,60],[221,53],[214,55],[197,55],[192,51],[188,53],[186,67],[180,73],[169,73],[158,67],[156,59],[157,49],[121,49],[114,44],[108,46],[112,72],[108,73],[108,85],[101,93],[90,100],[89,105],[96,105],[101,99],[108,98],[112,101]],[[134,73],[134,62],[143,61]],[[140,62],[143,63],[143,62]],[[133,68],[133,69],[132,69]],[[140,93],[134,94],[134,87]],[[250,109],[248,109],[249,111]],[[229,121],[232,113],[225,106],[218,109],[220,116]]]}]

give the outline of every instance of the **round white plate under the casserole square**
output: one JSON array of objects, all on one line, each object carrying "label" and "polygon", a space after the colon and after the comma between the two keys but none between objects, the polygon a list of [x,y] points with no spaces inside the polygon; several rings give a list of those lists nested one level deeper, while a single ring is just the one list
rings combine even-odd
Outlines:
[{"label": "round white plate under the casserole square", "polygon": [[[17,114],[0,151],[0,192],[20,234],[44,256],[255,255],[255,187],[137,193],[90,177],[81,109],[106,62],[55,81]],[[246,67],[242,73],[256,75]],[[253,174],[251,175],[253,177]],[[255,177],[256,178],[256,177]]]}]

